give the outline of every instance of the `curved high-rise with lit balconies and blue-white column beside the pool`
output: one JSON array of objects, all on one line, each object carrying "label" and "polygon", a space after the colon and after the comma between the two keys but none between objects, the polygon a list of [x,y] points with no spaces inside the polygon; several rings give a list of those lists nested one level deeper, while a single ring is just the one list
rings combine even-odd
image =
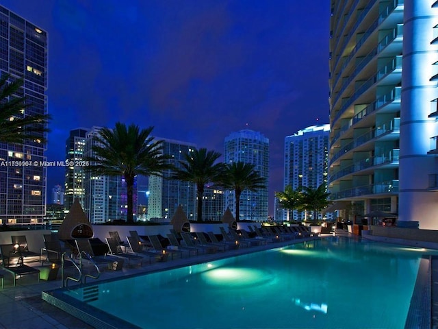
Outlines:
[{"label": "curved high-rise with lit balconies and blue-white column beside the pool", "polygon": [[437,26],[435,0],[331,1],[329,191],[339,209],[438,228]]}]

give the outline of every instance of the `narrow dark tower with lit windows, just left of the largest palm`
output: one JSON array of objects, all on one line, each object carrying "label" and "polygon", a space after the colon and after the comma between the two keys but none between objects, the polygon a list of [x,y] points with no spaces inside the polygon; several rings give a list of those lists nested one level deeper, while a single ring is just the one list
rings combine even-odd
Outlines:
[{"label": "narrow dark tower with lit windows, just left of the largest palm", "polygon": [[[70,136],[66,140],[66,161],[73,164],[83,160],[83,151],[85,150],[86,134],[88,129],[77,128],[70,131]],[[79,199],[79,203],[83,207],[83,197],[85,195],[83,178],[84,171],[82,166],[66,167],[65,177],[65,194],[64,204],[66,210],[70,210],[75,199]]]}]

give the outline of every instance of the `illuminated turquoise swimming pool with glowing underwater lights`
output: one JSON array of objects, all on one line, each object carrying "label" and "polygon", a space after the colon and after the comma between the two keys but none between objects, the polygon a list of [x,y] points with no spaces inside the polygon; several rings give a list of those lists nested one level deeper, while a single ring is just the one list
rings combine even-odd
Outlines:
[{"label": "illuminated turquoise swimming pool with glowing underwater lights", "polygon": [[331,237],[55,295],[115,328],[404,328],[431,253]]}]

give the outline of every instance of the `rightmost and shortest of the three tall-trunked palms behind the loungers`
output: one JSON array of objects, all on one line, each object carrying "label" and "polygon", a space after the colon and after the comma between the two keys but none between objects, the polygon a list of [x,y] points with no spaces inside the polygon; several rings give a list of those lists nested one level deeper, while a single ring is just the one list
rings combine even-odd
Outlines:
[{"label": "rightmost and shortest of the three tall-trunked palms behind the loungers", "polygon": [[220,185],[223,188],[234,190],[235,195],[235,220],[240,221],[240,195],[243,191],[255,192],[266,188],[266,180],[255,170],[255,164],[242,161],[225,164]]}]

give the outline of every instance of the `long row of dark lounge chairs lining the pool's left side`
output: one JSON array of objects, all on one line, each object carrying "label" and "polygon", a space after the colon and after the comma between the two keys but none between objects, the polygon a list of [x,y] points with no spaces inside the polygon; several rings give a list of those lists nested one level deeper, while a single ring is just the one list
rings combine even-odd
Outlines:
[{"label": "long row of dark lounge chairs lining the pool's left side", "polygon": [[[123,266],[140,266],[144,263],[165,262],[177,258],[187,258],[216,252],[227,252],[231,249],[266,245],[276,241],[287,241],[310,236],[309,230],[300,226],[257,228],[249,226],[246,230],[225,230],[220,234],[213,232],[181,232],[173,230],[164,236],[139,236],[137,231],[129,231],[126,241],[122,241],[118,232],[109,232],[105,243],[101,242],[100,252],[94,252],[89,239],[60,241],[57,234],[44,234],[44,248],[38,254],[31,252],[25,236],[12,236],[12,243],[0,245],[1,267],[12,273],[14,285],[18,276],[38,274],[38,267],[25,265],[25,259],[38,258],[41,265],[49,262],[61,267],[73,265],[78,268],[78,259],[84,264],[87,260],[99,268],[121,269]],[[218,239],[219,238],[219,239]],[[99,239],[98,239],[99,240]],[[65,243],[64,243],[65,242]],[[63,246],[64,243],[64,246]],[[45,255],[43,256],[43,252]],[[80,264],[83,266],[84,264]],[[3,285],[3,275],[0,273]]]}]

